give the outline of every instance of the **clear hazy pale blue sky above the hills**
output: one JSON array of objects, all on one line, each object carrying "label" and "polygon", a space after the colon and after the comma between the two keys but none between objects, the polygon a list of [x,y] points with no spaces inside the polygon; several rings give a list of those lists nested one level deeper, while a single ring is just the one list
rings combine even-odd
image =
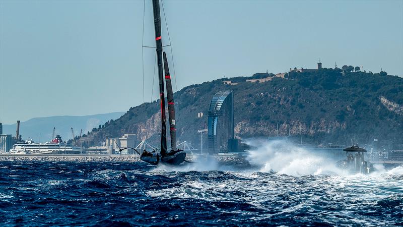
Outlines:
[{"label": "clear hazy pale blue sky above the hills", "polygon": [[[143,4],[0,0],[0,121],[141,104]],[[178,89],[266,69],[315,68],[319,57],[323,67],[403,75],[403,1],[166,0],[164,7]],[[155,45],[150,1],[145,12],[144,44]],[[162,39],[169,43],[165,26]],[[144,49],[146,101],[154,57]]]}]

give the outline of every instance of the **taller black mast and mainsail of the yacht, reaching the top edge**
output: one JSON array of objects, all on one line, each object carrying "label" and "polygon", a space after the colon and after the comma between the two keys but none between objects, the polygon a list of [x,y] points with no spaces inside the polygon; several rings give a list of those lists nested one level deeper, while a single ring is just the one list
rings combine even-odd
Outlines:
[{"label": "taller black mast and mainsail of the yacht, reaching the top edge", "polygon": [[155,43],[157,45],[157,62],[158,62],[158,80],[160,84],[160,102],[161,102],[161,156],[167,153],[167,130],[165,125],[165,95],[164,95],[164,78],[162,71],[162,40],[161,40],[161,15],[160,0],[153,0],[154,12],[154,28]]}]

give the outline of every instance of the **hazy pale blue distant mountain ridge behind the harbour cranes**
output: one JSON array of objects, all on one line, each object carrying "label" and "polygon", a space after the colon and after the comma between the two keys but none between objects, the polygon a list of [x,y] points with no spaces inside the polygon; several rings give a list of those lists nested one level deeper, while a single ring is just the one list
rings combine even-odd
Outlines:
[{"label": "hazy pale blue distant mountain ridge behind the harbour cranes", "polygon": [[[99,125],[103,125],[105,122],[111,119],[117,119],[122,116],[124,112],[111,112],[102,113],[98,115],[89,116],[53,116],[44,118],[33,118],[26,122],[20,123],[20,134],[23,139],[31,138],[35,142],[50,141],[52,137],[53,127],[56,127],[55,134],[62,136],[63,140],[69,140],[73,138],[72,130],[76,136],[80,135],[81,129],[83,134],[91,132],[93,128],[98,128]],[[3,133],[16,135],[17,123],[13,125],[3,125]]]}]

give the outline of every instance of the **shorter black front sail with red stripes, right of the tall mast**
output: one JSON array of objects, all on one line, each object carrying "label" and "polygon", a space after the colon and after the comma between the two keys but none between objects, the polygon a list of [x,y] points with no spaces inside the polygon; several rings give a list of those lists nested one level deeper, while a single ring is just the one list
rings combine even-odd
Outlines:
[{"label": "shorter black front sail with red stripes, right of the tall mast", "polygon": [[167,55],[165,54],[165,51],[162,53],[164,55],[165,84],[167,88],[168,99],[169,132],[171,133],[171,150],[176,150],[175,102],[173,100],[171,75],[169,74]]}]

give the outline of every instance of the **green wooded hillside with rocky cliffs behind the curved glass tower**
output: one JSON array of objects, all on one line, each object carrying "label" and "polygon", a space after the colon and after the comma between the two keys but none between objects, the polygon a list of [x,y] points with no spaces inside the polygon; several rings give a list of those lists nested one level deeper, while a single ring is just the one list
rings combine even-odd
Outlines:
[{"label": "green wooded hillside with rocky cliffs behind the curved glass tower", "polygon": [[[305,143],[360,144],[374,139],[385,144],[403,144],[403,78],[365,72],[321,69],[292,72],[285,78],[273,74],[224,78],[187,86],[175,93],[177,137],[199,144],[197,130],[207,128],[208,106],[220,90],[233,90],[235,135],[239,138],[288,136]],[[246,79],[273,77],[263,83]],[[239,82],[236,85],[223,81]],[[160,113],[158,102],[131,107],[121,118],[107,122],[88,136],[93,144],[106,137],[135,133],[158,144]],[[197,113],[203,112],[203,118]]]}]

